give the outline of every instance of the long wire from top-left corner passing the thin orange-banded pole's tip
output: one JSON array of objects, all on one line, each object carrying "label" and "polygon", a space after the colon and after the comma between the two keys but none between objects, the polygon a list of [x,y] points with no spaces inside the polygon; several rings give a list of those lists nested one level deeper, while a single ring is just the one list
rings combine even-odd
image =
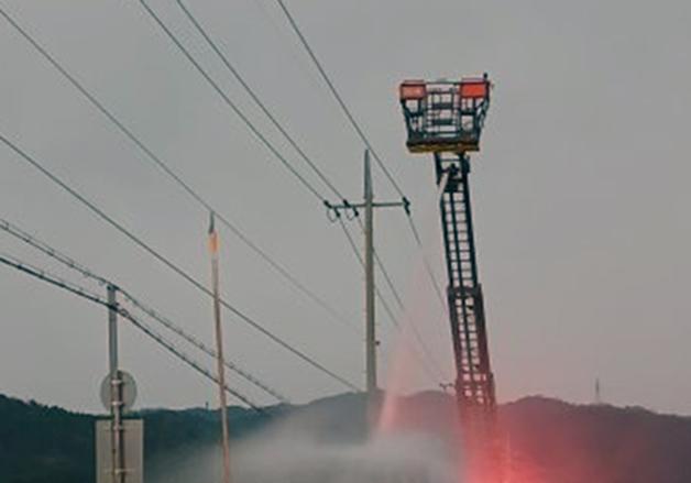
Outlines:
[{"label": "long wire from top-left corner passing the thin orange-banded pole's tip", "polygon": [[268,253],[261,249],[250,238],[244,234],[235,224],[233,224],[227,217],[215,209],[207,200],[205,200],[198,193],[196,193],[179,175],[177,175],[160,156],[157,156],[140,138],[138,138],[118,117],[116,117],[106,106],[98,100],[86,87],[77,80],[57,59],[51,55],[33,36],[29,34],[21,25],[17,23],[3,9],[0,7],[0,14],[17,30],[63,77],[65,77],[69,84],[73,85],[94,107],[96,107],[118,130],[125,135],[132,143],[134,143],[145,155],[151,160],[154,165],[168,175],[175,183],[177,183],[195,201],[201,205],[208,211],[216,213],[217,218],[221,221],[226,228],[228,228],[235,237],[240,239],[250,250],[256,253],[260,259],[266,262],[273,267],[283,278],[296,287],[299,292],[305,294],[309,299],[319,305],[322,309],[328,311],[339,322],[348,326],[352,326],[348,319],[343,318],[337,310],[334,310],[323,298],[319,297],[314,290],[309,289],[303,284],[296,276],[284,267],[281,263],[275,261]]}]

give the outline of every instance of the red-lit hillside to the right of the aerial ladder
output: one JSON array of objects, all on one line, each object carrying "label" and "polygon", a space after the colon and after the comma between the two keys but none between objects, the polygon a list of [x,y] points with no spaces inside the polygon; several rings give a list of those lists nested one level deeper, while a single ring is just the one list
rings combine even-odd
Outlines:
[{"label": "red-lit hillside to the right of the aerial ladder", "polygon": [[542,397],[507,404],[501,414],[515,454],[537,481],[691,482],[689,417]]}]

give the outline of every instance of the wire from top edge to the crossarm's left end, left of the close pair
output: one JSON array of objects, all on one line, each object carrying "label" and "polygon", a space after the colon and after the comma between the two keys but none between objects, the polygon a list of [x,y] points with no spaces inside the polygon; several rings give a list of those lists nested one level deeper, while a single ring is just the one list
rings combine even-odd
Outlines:
[{"label": "wire from top edge to the crossarm's left end, left of the close pair", "polygon": [[151,7],[144,1],[140,0],[140,3],[149,15],[156,22],[156,24],[163,30],[166,36],[175,44],[178,51],[183,53],[185,58],[195,67],[195,69],[205,78],[205,80],[216,90],[216,92],[223,99],[223,102],[242,120],[242,122],[250,129],[252,134],[288,169],[295,178],[309,191],[318,198],[325,206],[329,206],[326,198],[301,175],[295,169],[290,162],[276,150],[276,147],[268,141],[268,139],[262,134],[262,132],[250,121],[242,110],[228,97],[228,95],[221,89],[221,87],[211,78],[211,76],[201,67],[201,65],[195,59],[195,57],[187,51],[187,48],[180,43],[175,34],[167,28],[167,25],[161,20],[161,18],[154,12]]}]

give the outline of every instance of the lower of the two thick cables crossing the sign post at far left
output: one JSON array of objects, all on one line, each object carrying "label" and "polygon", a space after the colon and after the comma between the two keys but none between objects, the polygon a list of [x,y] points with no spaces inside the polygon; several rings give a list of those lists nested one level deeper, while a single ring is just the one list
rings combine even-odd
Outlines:
[{"label": "lower of the two thick cables crossing the sign post at far left", "polygon": [[[171,352],[173,355],[175,355],[176,358],[178,358],[179,360],[182,360],[183,362],[185,362],[187,365],[189,365],[190,367],[193,367],[195,371],[199,372],[201,375],[204,375],[205,377],[216,382],[216,376],[208,371],[207,369],[205,369],[204,366],[201,366],[198,362],[194,361],[191,358],[189,358],[187,354],[185,354],[184,352],[182,352],[179,349],[177,349],[173,343],[171,343],[169,341],[167,341],[163,336],[161,336],[160,333],[157,333],[155,330],[153,330],[151,327],[149,327],[146,323],[142,322],[141,320],[139,320],[138,318],[135,318],[133,315],[131,315],[130,312],[128,312],[127,310],[124,310],[122,307],[116,305],[116,307],[112,307],[105,298],[102,298],[101,296],[94,294],[92,292],[77,285],[74,284],[72,282],[67,282],[56,275],[52,275],[48,272],[42,270],[42,268],[37,268],[33,265],[30,265],[25,262],[21,262],[18,259],[14,259],[10,255],[7,254],[0,254],[0,263],[13,267],[20,272],[23,272],[26,275],[31,275],[34,278],[37,278],[42,282],[46,282],[53,286],[56,286],[58,288],[62,288],[73,295],[76,295],[80,298],[84,298],[86,300],[92,301],[97,305],[101,305],[103,307],[109,307],[109,308],[114,308],[118,314],[123,317],[124,319],[129,320],[134,327],[136,327],[139,330],[141,330],[142,332],[144,332],[146,336],[149,336],[150,338],[152,338],[153,340],[155,340],[157,343],[160,343],[164,349],[166,349],[168,352]],[[228,384],[226,384],[224,386],[226,391],[233,395],[234,397],[237,397],[239,400],[243,402],[244,404],[246,404],[248,406],[250,406],[252,409],[255,409],[257,411],[263,413],[264,409],[262,409],[259,405],[256,405],[255,403],[253,403],[249,397],[244,396],[242,393],[233,389],[232,387],[230,387]]]}]

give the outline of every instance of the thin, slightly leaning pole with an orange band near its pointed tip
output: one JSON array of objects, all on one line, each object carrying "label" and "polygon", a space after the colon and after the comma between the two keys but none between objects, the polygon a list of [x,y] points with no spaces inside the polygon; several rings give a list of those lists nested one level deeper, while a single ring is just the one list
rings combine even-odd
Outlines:
[{"label": "thin, slightly leaning pole with an orange band near its pointed tip", "polygon": [[213,226],[213,212],[209,224],[209,252],[211,255],[211,283],[213,285],[213,319],[216,325],[216,363],[218,369],[218,395],[221,413],[221,438],[223,448],[223,483],[230,483],[230,441],[228,435],[228,404],[226,400],[226,362],[223,360],[223,334],[221,330],[221,303],[218,281],[218,233]]}]

